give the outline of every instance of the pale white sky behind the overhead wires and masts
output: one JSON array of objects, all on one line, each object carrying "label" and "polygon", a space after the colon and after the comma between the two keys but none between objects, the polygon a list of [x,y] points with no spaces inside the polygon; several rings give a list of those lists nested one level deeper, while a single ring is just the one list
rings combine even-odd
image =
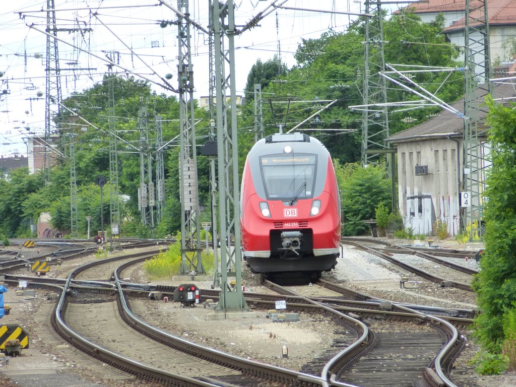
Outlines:
[{"label": "pale white sky behind the overhead wires and masts", "polygon": [[[176,0],[165,0],[178,8]],[[47,0],[2,2],[0,10],[0,155],[26,155],[27,134],[44,134],[45,55]],[[160,83],[172,74],[177,87],[177,27],[160,27],[160,21],[175,21],[175,13],[158,0],[54,0],[58,33],[61,92],[65,99],[102,80],[107,71],[105,52],[120,53],[115,72],[130,71]],[[247,75],[258,59],[265,62],[275,54],[288,67],[301,39],[317,39],[329,29],[344,32],[352,15],[312,10],[359,12],[363,1],[276,0],[285,7],[272,8],[273,0],[234,0],[235,24],[246,25],[260,12],[270,12],[256,27],[235,38],[236,89],[244,94]],[[190,18],[208,29],[209,0],[190,0]],[[360,8],[361,7],[361,8]],[[303,8],[304,10],[300,10]],[[308,10],[310,9],[310,10]],[[208,95],[208,40],[190,27],[195,98]],[[132,52],[131,52],[132,50]],[[171,91],[152,84],[158,93]],[[28,129],[27,129],[28,128]]]}]

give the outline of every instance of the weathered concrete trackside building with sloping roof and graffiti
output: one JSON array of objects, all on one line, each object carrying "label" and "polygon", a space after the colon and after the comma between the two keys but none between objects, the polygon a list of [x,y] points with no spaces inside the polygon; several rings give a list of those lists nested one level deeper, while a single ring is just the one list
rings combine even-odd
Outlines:
[{"label": "weathered concrete trackside building with sloping roof and graffiti", "polygon": [[[509,84],[498,84],[494,93],[497,99],[516,97],[514,86]],[[478,89],[479,103],[485,97],[485,92]],[[464,100],[451,106],[464,111]],[[479,119],[483,120],[486,114],[486,109],[482,109]],[[397,148],[399,214],[405,228],[412,229],[414,234],[430,235],[436,222],[444,222],[451,236],[460,232],[463,132],[464,120],[443,110],[429,121],[386,139]],[[479,145],[482,155],[488,156],[491,146],[487,138],[479,138]],[[489,167],[486,161],[483,168]]]}]

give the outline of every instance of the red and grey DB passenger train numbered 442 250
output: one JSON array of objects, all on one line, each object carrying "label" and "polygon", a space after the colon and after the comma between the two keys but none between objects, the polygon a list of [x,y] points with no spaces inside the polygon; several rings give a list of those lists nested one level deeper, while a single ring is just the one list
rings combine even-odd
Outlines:
[{"label": "red and grey DB passenger train numbered 442 250", "polygon": [[251,148],[240,191],[243,257],[254,272],[320,277],[340,254],[341,201],[328,150],[301,133]]}]

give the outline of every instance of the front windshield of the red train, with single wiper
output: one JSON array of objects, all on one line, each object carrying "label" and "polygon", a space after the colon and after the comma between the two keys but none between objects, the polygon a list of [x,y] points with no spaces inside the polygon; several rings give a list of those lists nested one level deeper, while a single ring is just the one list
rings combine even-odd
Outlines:
[{"label": "front windshield of the red train, with single wiper", "polygon": [[268,200],[311,199],[317,155],[278,154],[260,157],[260,169]]}]

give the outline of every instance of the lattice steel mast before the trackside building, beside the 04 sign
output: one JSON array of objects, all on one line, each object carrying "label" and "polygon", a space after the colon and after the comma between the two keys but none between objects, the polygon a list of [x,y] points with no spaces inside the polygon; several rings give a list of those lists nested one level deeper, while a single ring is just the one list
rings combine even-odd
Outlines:
[{"label": "lattice steel mast before the trackside building, beside the 04 sign", "polygon": [[489,161],[490,144],[487,129],[481,121],[483,97],[493,93],[491,55],[489,49],[489,17],[487,0],[466,0],[464,29],[464,134],[463,134],[463,192],[467,192],[471,202],[462,206],[462,227],[471,226],[470,240],[474,235],[481,237],[482,195],[485,189],[485,172]]}]

